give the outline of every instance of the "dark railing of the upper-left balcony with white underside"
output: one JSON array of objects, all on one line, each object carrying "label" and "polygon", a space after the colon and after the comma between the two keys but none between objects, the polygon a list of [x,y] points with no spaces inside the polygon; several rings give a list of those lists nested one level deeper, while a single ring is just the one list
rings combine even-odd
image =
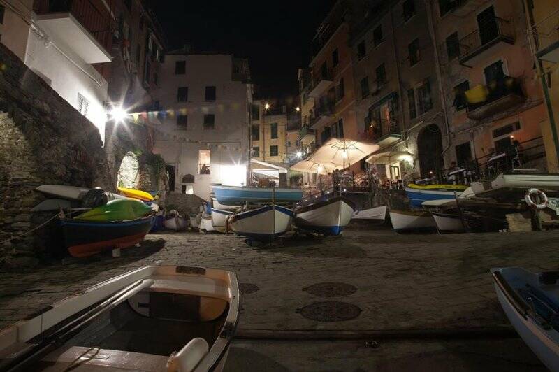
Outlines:
[{"label": "dark railing of the upper-left balcony with white underside", "polygon": [[35,13],[71,13],[104,48],[112,43],[112,21],[102,2],[92,0],[38,0],[34,3]]}]

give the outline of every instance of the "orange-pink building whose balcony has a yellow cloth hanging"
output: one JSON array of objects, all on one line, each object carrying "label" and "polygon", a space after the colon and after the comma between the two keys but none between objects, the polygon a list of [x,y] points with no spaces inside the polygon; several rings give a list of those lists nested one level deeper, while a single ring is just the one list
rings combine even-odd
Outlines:
[{"label": "orange-pink building whose balcony has a yellow cloth hanging", "polygon": [[546,134],[542,79],[530,54],[523,1],[426,4],[449,118],[447,165],[492,166],[520,148],[523,156],[507,157],[514,164],[504,165],[545,170],[542,127],[544,138],[552,136]]}]

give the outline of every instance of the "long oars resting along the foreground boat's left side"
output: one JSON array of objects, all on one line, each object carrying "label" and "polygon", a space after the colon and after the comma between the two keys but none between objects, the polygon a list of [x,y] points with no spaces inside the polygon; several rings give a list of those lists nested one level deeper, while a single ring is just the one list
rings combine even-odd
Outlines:
[{"label": "long oars resting along the foreground boat's left side", "polygon": [[110,298],[106,299],[91,310],[88,310],[85,314],[80,315],[77,319],[46,336],[39,343],[31,345],[29,350],[25,351],[22,355],[0,364],[0,370],[14,372],[27,370],[29,364],[36,362],[36,360],[48,354],[48,352],[59,348],[61,345],[66,343],[66,341],[71,339],[73,336],[82,331],[82,329],[96,320],[99,315],[115,308],[119,305],[119,303],[122,303],[122,301],[126,301],[134,294],[140,292],[145,287],[150,287],[152,284],[152,279],[133,282],[131,285],[121,289],[119,292],[113,294]]}]

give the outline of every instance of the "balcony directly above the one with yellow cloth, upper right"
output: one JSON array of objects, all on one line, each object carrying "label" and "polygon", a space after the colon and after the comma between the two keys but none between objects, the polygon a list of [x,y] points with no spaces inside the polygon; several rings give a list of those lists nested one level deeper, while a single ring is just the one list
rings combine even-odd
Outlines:
[{"label": "balcony directly above the one with yellow cloth, upper right", "polygon": [[495,17],[484,23],[484,27],[460,39],[458,61],[464,66],[472,66],[498,55],[507,45],[514,44],[514,27],[511,22]]}]

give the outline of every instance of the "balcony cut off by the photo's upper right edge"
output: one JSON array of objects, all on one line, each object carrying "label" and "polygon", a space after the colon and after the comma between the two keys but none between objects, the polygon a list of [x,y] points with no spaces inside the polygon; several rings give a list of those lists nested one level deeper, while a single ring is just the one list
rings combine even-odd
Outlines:
[{"label": "balcony cut off by the photo's upper right edge", "polygon": [[532,54],[542,61],[559,62],[559,9],[528,30]]}]

